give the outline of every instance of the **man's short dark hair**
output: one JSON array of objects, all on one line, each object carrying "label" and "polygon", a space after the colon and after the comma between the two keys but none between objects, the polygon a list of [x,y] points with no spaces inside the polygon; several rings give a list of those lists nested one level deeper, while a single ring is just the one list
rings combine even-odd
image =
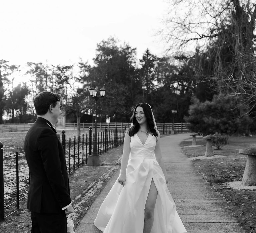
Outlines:
[{"label": "man's short dark hair", "polygon": [[56,106],[57,102],[61,100],[61,96],[57,93],[53,92],[40,92],[35,98],[34,98],[34,106],[36,109],[37,115],[45,115],[50,105],[53,107]]}]

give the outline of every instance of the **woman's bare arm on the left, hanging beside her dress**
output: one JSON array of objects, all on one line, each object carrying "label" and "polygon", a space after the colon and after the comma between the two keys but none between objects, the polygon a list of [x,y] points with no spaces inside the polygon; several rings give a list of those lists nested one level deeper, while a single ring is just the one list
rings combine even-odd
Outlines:
[{"label": "woman's bare arm on the left, hanging beside her dress", "polygon": [[126,180],[126,168],[129,160],[129,155],[130,155],[130,141],[131,141],[131,137],[129,136],[128,130],[127,130],[124,135],[124,148],[123,148],[123,155],[121,160],[121,171],[118,177],[118,182],[123,186]]}]

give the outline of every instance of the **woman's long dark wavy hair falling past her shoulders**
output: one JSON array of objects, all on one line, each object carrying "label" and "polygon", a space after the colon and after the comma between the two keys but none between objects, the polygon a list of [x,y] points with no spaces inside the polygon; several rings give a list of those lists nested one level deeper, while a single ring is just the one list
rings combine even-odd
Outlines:
[{"label": "woman's long dark wavy hair falling past her shoulders", "polygon": [[144,114],[147,118],[149,130],[153,133],[153,135],[155,137],[157,137],[158,134],[157,134],[157,131],[156,131],[156,128],[155,128],[151,107],[147,103],[137,104],[136,107],[134,108],[133,115],[130,118],[131,122],[133,123],[133,126],[128,129],[128,134],[130,136],[134,136],[134,134],[139,131],[140,124],[138,123],[138,121],[136,120],[136,117],[135,117],[135,111],[138,107],[143,108],[143,112],[144,112]]}]

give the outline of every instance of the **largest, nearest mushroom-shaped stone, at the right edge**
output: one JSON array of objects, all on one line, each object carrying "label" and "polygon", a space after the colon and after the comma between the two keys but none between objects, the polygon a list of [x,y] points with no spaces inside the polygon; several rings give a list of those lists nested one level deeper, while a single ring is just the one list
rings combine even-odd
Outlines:
[{"label": "largest, nearest mushroom-shaped stone, at the right edge", "polygon": [[256,148],[245,148],[239,150],[240,154],[247,154],[242,184],[246,186],[256,185]]}]

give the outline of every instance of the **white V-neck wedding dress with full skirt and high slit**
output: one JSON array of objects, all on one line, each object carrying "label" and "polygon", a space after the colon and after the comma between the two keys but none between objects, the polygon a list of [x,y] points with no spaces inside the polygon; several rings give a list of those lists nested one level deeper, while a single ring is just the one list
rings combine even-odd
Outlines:
[{"label": "white V-neck wedding dress with full skirt and high slit", "polygon": [[151,232],[187,232],[155,159],[155,145],[156,137],[151,134],[144,145],[137,134],[131,137],[125,185],[116,180],[94,220],[94,225],[104,233],[143,232],[144,209],[152,179],[158,195]]}]

